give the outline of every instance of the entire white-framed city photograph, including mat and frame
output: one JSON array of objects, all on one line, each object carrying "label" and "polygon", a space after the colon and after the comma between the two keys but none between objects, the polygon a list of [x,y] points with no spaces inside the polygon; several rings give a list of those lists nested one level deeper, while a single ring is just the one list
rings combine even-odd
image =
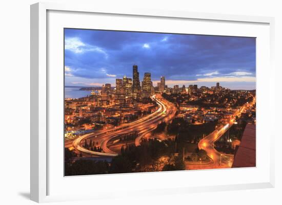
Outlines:
[{"label": "entire white-framed city photograph, including mat and frame", "polygon": [[273,25],[32,5],[31,199],[273,187]]}]

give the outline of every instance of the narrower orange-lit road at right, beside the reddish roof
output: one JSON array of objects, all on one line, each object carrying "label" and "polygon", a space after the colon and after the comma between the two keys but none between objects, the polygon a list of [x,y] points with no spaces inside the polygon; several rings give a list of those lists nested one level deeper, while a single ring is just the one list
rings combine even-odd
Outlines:
[{"label": "narrower orange-lit road at right, beside the reddish roof", "polygon": [[[255,103],[255,97],[251,104]],[[214,142],[217,141],[235,122],[235,116],[240,116],[243,111],[245,111],[247,104],[241,106],[241,108],[234,113],[234,117],[229,120],[224,126],[220,126],[215,129],[212,133],[207,135],[204,139],[200,140],[198,143],[199,149],[204,149],[207,155],[213,160],[211,168],[226,168],[232,166],[232,157],[230,155],[221,154],[214,148]]]}]

